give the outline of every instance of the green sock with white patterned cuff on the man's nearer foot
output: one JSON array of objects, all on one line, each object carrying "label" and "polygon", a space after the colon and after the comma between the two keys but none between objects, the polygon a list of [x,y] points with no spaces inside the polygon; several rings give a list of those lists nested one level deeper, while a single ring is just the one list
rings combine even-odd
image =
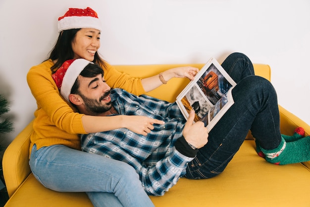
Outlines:
[{"label": "green sock with white patterned cuff on the man's nearer foot", "polygon": [[[261,148],[261,147],[260,147]],[[275,149],[263,149],[265,159],[277,165],[292,164],[310,160],[310,137],[286,142],[282,138],[281,143]]]}]

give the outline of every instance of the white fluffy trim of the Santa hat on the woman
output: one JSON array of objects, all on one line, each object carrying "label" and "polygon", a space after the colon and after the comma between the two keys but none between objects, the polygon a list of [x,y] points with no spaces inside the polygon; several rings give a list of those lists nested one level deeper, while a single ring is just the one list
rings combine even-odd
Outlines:
[{"label": "white fluffy trim of the Santa hat on the woman", "polygon": [[92,28],[102,31],[101,21],[93,16],[66,16],[58,20],[58,32],[80,28]]}]

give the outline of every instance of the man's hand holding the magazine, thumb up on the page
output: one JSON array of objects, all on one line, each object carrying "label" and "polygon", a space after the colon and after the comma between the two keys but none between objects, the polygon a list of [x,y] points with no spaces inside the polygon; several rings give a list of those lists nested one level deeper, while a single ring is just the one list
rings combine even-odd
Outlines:
[{"label": "man's hand holding the magazine, thumb up on the page", "polygon": [[208,134],[207,128],[203,122],[196,122],[193,124],[195,118],[195,111],[191,110],[189,118],[183,129],[183,136],[185,140],[195,146],[201,148],[207,144]]}]

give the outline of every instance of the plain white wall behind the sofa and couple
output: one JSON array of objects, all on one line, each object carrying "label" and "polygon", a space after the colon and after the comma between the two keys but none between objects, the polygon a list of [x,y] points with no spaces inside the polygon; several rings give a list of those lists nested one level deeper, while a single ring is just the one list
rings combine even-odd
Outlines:
[{"label": "plain white wall behind the sofa and couple", "polygon": [[309,0],[0,0],[0,93],[15,124],[7,142],[33,119],[26,74],[52,49],[57,18],[87,6],[105,27],[100,52],[110,64],[222,62],[242,52],[271,66],[279,103],[310,124]]}]

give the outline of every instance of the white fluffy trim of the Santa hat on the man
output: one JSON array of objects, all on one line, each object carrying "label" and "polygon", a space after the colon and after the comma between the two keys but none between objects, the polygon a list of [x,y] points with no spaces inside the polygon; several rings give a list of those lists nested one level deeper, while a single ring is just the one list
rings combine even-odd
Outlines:
[{"label": "white fluffy trim of the Santa hat on the man", "polygon": [[64,99],[69,101],[69,95],[72,89],[72,86],[76,80],[76,78],[79,76],[81,71],[88,65],[88,64],[94,64],[93,62],[90,62],[85,59],[76,59],[73,61],[73,63],[69,66],[66,73],[63,76],[62,84],[60,87],[60,94]]}]

